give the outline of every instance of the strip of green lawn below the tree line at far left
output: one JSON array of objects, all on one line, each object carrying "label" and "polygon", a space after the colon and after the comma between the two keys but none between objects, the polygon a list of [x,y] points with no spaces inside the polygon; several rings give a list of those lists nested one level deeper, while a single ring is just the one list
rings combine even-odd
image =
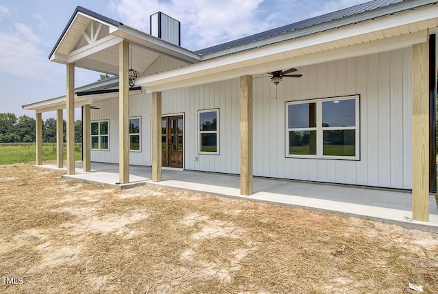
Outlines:
[{"label": "strip of green lawn below the tree line at far left", "polygon": [[[66,146],[64,144],[64,160],[66,159]],[[44,143],[42,146],[42,160],[56,160],[56,145],[55,143]],[[82,145],[75,145],[75,160],[82,160]],[[35,143],[19,144],[12,146],[10,144],[0,144],[0,165],[11,163],[35,163],[36,150]]]}]

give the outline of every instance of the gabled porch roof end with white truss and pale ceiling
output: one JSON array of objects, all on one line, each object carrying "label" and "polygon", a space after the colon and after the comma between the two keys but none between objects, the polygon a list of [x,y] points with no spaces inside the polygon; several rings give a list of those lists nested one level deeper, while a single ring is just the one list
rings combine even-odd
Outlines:
[{"label": "gabled porch roof end with white truss and pale ceiling", "polygon": [[144,72],[159,55],[193,63],[198,55],[83,8],[67,25],[49,59],[62,64],[118,75],[118,44],[127,40],[129,68]]}]

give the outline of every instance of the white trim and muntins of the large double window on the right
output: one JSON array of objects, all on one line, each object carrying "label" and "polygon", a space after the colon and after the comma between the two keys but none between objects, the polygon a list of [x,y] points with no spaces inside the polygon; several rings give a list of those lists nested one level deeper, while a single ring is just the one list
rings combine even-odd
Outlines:
[{"label": "white trim and muntins of the large double window on the right", "polygon": [[[327,101],[342,101],[355,99],[355,126],[333,126],[322,127],[322,103]],[[288,105],[316,103],[316,127],[292,128],[289,129],[289,107]],[[308,158],[308,159],[343,159],[360,160],[360,95],[339,96],[331,98],[318,98],[312,100],[289,101],[285,103],[285,157],[287,158]],[[323,155],[323,131],[330,130],[355,130],[356,150],[355,156],[331,156]],[[289,131],[316,131],[316,155],[290,155],[289,154]]]}]

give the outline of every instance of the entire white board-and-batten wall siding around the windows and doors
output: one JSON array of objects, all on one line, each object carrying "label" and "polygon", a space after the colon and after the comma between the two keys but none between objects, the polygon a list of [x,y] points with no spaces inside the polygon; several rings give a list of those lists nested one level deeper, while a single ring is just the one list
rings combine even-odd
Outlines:
[{"label": "entire white board-and-batten wall siding around the windows and doors", "polygon": [[[303,76],[284,78],[278,98],[267,75],[254,76],[254,175],[411,189],[411,58],[408,48],[298,68]],[[186,170],[240,173],[239,87],[232,79],[162,93],[163,116],[183,113]],[[142,152],[130,152],[131,164],[151,165],[151,94],[145,93],[130,98],[129,116],[142,117]],[[357,94],[360,160],[285,158],[285,103]],[[116,163],[118,100],[96,106],[92,120],[110,119],[110,151],[92,151],[92,161]],[[219,109],[219,155],[198,154],[198,111],[205,109]]]}]

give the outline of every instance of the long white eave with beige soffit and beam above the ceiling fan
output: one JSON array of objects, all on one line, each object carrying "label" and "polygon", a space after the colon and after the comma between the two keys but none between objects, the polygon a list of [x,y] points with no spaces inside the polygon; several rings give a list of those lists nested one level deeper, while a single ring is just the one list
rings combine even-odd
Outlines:
[{"label": "long white eave with beige soffit and beam above the ceiling fan", "polygon": [[159,92],[406,48],[426,42],[428,29],[438,27],[437,15],[438,5],[417,8],[140,77],[136,85]]}]

